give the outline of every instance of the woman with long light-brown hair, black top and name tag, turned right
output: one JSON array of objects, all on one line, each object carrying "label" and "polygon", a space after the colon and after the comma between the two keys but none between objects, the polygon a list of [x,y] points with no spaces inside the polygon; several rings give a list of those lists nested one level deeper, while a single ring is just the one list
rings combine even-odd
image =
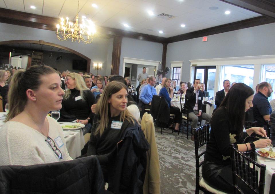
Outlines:
[{"label": "woman with long light-brown hair, black top and name tag, turned right", "polygon": [[[109,161],[108,157],[110,153],[117,149],[117,144],[129,128],[134,128],[133,131],[138,131],[137,133],[131,133],[131,135],[135,136],[140,142],[139,146],[143,146],[143,142],[147,142],[144,140],[143,132],[139,132],[141,129],[137,120],[126,108],[127,96],[128,88],[126,85],[112,81],[107,84],[95,108],[95,121],[92,127],[91,138],[88,142],[87,156],[97,156],[106,181],[108,167],[114,162]],[[136,136],[137,134],[140,134],[140,136]],[[139,147],[135,147],[135,149],[139,149]]]}]

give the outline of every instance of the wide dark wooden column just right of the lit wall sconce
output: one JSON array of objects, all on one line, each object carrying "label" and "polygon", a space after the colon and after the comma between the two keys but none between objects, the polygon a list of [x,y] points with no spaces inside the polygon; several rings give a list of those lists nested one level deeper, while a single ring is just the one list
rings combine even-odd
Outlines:
[{"label": "wide dark wooden column just right of the lit wall sconce", "polygon": [[121,52],[121,36],[115,36],[113,41],[112,67],[111,75],[119,74],[120,52]]}]

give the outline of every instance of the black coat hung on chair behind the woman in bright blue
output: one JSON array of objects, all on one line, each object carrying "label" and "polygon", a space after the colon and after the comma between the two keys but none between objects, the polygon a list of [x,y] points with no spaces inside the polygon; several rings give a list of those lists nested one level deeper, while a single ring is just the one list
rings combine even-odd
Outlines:
[{"label": "black coat hung on chair behind the woman in bright blue", "polygon": [[167,101],[163,96],[154,95],[151,102],[150,114],[156,120],[163,124],[168,124],[170,119],[170,110]]}]

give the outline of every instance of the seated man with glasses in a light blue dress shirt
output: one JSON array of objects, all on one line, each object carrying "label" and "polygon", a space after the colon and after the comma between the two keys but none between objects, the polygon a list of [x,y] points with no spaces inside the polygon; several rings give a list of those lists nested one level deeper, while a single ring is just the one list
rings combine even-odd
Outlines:
[{"label": "seated man with glasses in a light blue dress shirt", "polygon": [[144,86],[140,92],[140,101],[138,105],[142,108],[142,112],[144,112],[145,108],[150,109],[153,95],[157,95],[156,89],[154,88],[156,78],[151,76],[149,77],[148,82],[149,84]]}]

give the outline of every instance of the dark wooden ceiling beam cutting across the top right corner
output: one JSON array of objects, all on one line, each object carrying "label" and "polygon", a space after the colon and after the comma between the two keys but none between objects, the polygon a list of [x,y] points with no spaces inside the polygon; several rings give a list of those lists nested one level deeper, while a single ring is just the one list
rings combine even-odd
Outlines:
[{"label": "dark wooden ceiling beam cutting across the top right corner", "polygon": [[220,0],[256,13],[275,18],[274,0]]}]

